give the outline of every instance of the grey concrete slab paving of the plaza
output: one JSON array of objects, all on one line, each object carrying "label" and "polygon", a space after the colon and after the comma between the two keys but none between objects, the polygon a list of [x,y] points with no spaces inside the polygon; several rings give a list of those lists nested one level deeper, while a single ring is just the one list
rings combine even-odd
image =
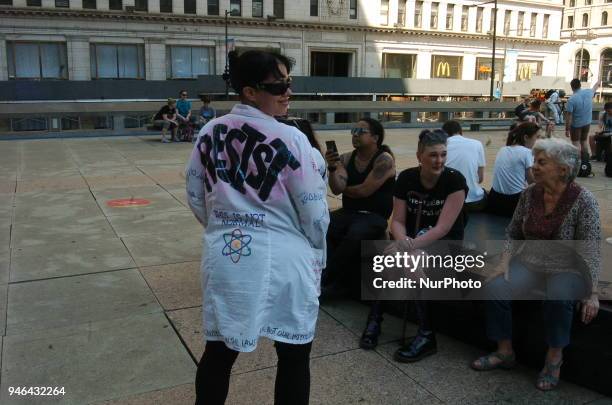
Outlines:
[{"label": "grey concrete slab paving of the plaza", "polygon": [[[400,170],[416,163],[417,133],[388,131]],[[505,134],[468,135],[487,145],[489,188]],[[350,149],[348,131],[319,136]],[[190,150],[158,137],[0,142],[0,404],[193,404],[204,342],[202,229],[184,191]],[[597,196],[612,237],[612,179],[601,163],[594,170],[579,182]],[[150,204],[108,204],[130,198]],[[351,301],[322,306],[311,403],[612,404],[567,382],[538,392],[537,370],[521,366],[472,372],[468,362],[482,352],[445,336],[436,356],[395,363],[401,321],[386,317],[380,346],[366,352],[358,347],[366,314]],[[228,404],[272,403],[275,363],[265,339],[241,355]],[[64,387],[65,395],[9,395],[9,387],[30,386]]]}]

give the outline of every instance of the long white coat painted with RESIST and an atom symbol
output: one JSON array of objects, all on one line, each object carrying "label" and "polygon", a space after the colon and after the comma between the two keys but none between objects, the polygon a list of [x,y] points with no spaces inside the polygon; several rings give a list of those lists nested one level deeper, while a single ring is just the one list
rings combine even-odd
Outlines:
[{"label": "long white coat painted with RESIST and an atom symbol", "polygon": [[294,127],[238,104],[200,131],[186,169],[204,226],[204,335],[233,350],[260,336],[304,344],[317,321],[327,188]]}]

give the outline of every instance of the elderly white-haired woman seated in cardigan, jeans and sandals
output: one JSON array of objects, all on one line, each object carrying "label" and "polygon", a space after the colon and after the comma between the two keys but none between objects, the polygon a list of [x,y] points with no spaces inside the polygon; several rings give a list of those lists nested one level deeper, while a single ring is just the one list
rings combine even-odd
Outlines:
[{"label": "elderly white-haired woman seated in cardigan, jeans and sandals", "polygon": [[[580,166],[578,149],[561,140],[543,139],[536,142],[533,154],[535,183],[521,195],[507,228],[498,272],[485,287],[487,336],[497,342],[497,351],[471,366],[479,371],[514,366],[511,301],[540,288],[545,291],[548,351],[536,387],[548,391],[559,383],[576,301],[581,302],[584,323],[599,310],[601,224],[597,200],[574,182]],[[568,244],[579,245],[579,253]]]}]

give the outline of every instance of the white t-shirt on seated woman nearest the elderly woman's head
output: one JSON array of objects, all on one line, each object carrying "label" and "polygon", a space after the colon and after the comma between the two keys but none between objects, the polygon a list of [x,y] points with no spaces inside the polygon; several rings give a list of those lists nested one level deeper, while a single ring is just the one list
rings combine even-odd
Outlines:
[{"label": "white t-shirt on seated woman nearest the elderly woman's head", "polygon": [[531,149],[521,145],[504,146],[495,157],[493,190],[507,195],[522,192],[527,187],[526,172],[531,166]]}]

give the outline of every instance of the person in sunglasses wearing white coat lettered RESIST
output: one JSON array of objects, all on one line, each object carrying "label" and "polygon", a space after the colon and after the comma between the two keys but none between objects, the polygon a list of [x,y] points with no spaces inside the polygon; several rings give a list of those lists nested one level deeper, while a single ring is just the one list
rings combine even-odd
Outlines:
[{"label": "person in sunglasses wearing white coat lettered RESIST", "polygon": [[186,169],[204,226],[196,404],[225,403],[234,361],[260,336],[275,341],[275,403],[307,404],[327,189],[306,137],[274,118],[287,113],[291,60],[247,51],[229,62],[241,103],[202,128]]}]

